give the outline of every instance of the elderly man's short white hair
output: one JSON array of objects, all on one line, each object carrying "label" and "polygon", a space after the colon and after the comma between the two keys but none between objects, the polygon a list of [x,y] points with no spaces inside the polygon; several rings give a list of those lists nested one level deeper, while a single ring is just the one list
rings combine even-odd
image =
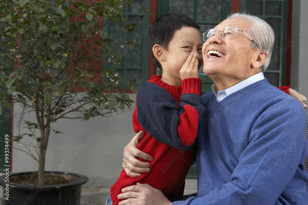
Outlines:
[{"label": "elderly man's short white hair", "polygon": [[227,18],[232,17],[245,17],[251,20],[253,23],[248,28],[249,36],[253,39],[252,47],[253,49],[259,48],[264,53],[268,54],[268,57],[265,63],[261,66],[261,71],[264,72],[267,69],[267,66],[270,64],[273,46],[274,46],[274,31],[272,27],[266,23],[263,19],[250,15],[250,14],[229,14]]}]

